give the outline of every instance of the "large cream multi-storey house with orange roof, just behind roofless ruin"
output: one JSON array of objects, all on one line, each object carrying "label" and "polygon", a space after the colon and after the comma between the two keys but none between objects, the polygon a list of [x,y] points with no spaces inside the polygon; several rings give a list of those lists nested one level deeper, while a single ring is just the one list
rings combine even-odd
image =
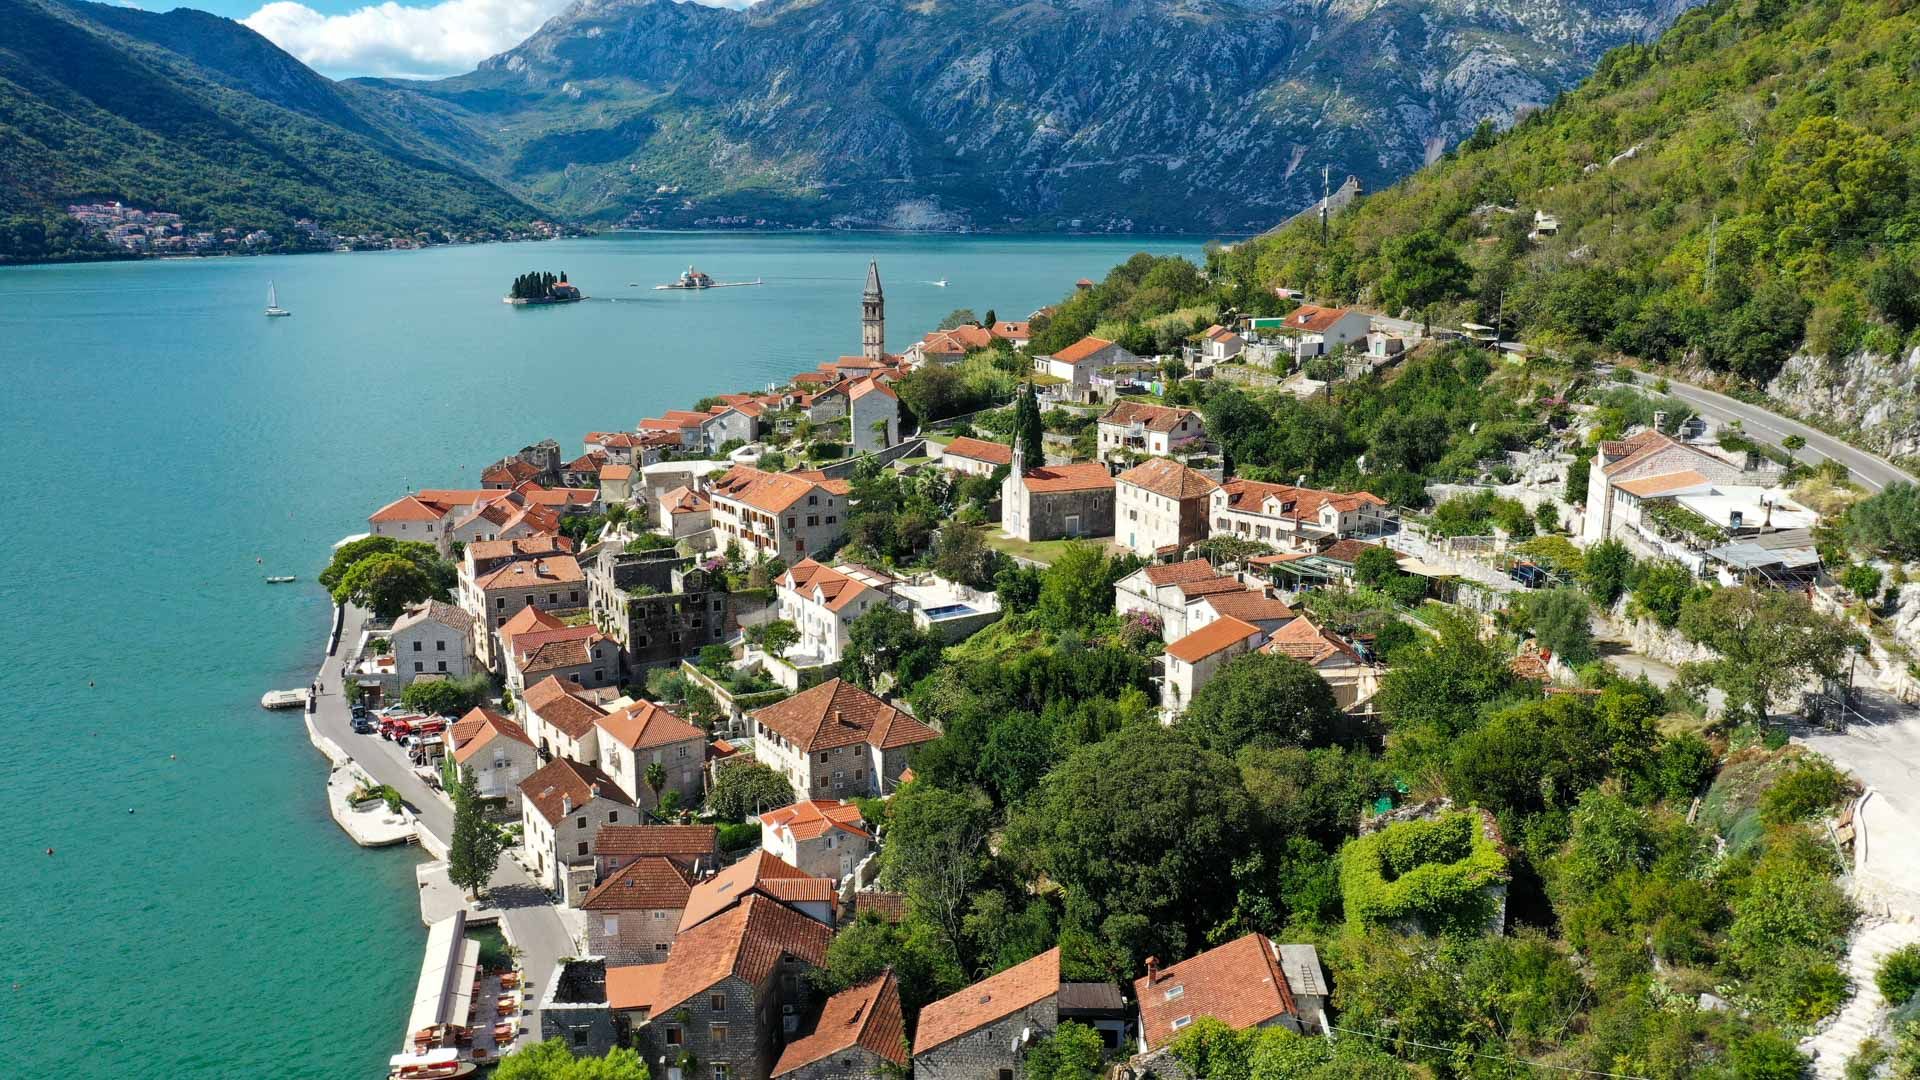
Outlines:
[{"label": "large cream multi-storey house with orange roof, just behind roofless ruin", "polygon": [[735,465],[712,480],[714,540],[789,563],[847,536],[847,480],[803,479]]}]

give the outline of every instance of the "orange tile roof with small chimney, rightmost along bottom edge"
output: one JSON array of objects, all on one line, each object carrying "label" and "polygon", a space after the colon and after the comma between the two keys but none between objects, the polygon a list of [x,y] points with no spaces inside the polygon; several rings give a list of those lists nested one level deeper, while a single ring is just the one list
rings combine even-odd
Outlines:
[{"label": "orange tile roof with small chimney, rightmost along bottom edge", "polygon": [[1164,969],[1158,978],[1139,978],[1133,992],[1140,1001],[1146,1049],[1173,1042],[1179,1034],[1173,1022],[1183,1017],[1213,1017],[1229,1028],[1244,1030],[1296,1009],[1279,949],[1263,934],[1248,934],[1185,959]]}]

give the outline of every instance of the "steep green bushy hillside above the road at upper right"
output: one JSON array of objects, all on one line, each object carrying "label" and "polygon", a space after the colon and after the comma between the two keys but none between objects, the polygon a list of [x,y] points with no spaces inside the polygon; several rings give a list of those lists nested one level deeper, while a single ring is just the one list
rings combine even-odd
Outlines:
[{"label": "steep green bushy hillside above the road at upper right", "polygon": [[[1296,227],[1217,267],[1755,382],[1801,340],[1887,350],[1920,327],[1916,44],[1899,0],[1715,0],[1365,198],[1325,246]],[[1542,242],[1536,209],[1559,219]]]}]

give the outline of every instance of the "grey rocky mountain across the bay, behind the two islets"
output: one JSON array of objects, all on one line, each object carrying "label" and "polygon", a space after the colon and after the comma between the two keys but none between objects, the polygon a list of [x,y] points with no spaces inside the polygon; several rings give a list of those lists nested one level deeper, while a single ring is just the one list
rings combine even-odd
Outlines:
[{"label": "grey rocky mountain across the bay, behind the two islets", "polygon": [[605,221],[1263,229],[1390,183],[1672,0],[582,0],[472,75],[376,85]]}]

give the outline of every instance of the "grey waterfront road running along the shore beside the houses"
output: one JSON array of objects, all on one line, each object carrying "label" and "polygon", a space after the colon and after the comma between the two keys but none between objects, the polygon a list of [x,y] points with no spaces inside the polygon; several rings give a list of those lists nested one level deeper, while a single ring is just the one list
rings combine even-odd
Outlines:
[{"label": "grey waterfront road running along the shore beside the houses", "polygon": [[[399,792],[399,798],[407,801],[407,807],[413,809],[419,828],[440,840],[436,847],[444,849],[453,838],[453,807],[447,799],[413,773],[413,763],[407,761],[405,751],[397,744],[376,734],[353,734],[351,707],[348,705],[346,686],[340,676],[340,657],[353,655],[365,625],[367,613],[348,607],[346,623],[340,628],[340,651],[334,657],[326,657],[317,676],[326,686],[326,692],[321,694],[319,707],[313,713],[313,726],[323,736],[334,740],[340,749],[348,751],[376,782],[392,784]],[[572,932],[561,920],[561,913],[553,907],[547,890],[538,886],[526,869],[511,857],[501,859],[499,869],[493,871],[493,880],[488,884],[486,907],[499,909],[507,938],[518,945],[520,967],[528,978],[530,1005],[526,1017],[520,1020],[528,1036],[522,1036],[520,1045],[538,1042],[540,1011],[534,1009],[534,1003],[538,1003],[540,994],[547,988],[553,965],[561,957],[578,955],[580,949],[574,945]],[[409,959],[407,963],[419,961]],[[405,1032],[396,1034],[405,1036]]]}]

